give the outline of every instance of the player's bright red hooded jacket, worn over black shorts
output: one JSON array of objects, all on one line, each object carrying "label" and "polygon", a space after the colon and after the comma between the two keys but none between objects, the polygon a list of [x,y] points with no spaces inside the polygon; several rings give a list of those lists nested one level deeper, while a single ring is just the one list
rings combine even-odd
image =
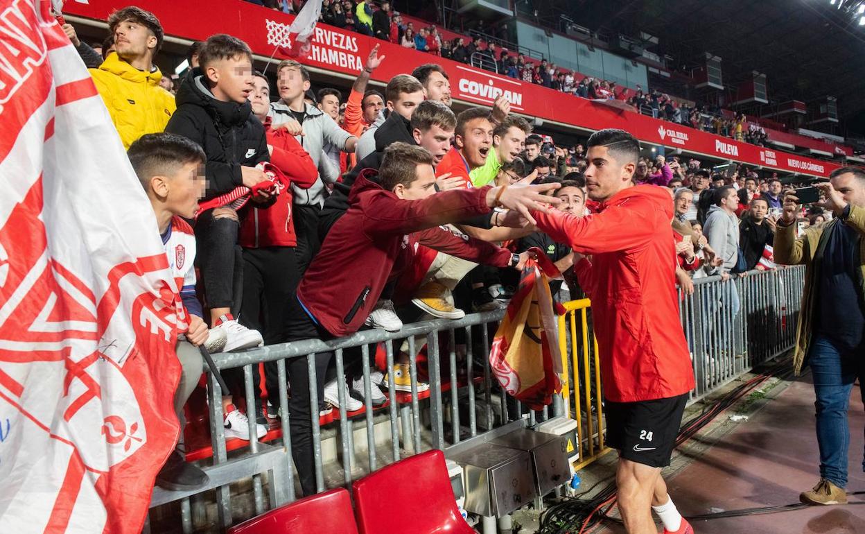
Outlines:
[{"label": "player's bright red hooded jacket, worn over black shorts", "polygon": [[650,401],[694,389],[676,299],[670,192],[637,185],[612,196],[598,214],[532,215],[554,241],[592,254],[574,271],[592,299],[606,399]]}]

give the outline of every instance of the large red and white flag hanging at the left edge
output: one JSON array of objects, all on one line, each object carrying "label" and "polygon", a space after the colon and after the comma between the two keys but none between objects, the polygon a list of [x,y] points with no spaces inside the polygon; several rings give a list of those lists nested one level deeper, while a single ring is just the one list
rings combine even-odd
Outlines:
[{"label": "large red and white flag hanging at the left edge", "polygon": [[47,0],[0,2],[0,531],[141,531],[185,328],[157,223]]}]

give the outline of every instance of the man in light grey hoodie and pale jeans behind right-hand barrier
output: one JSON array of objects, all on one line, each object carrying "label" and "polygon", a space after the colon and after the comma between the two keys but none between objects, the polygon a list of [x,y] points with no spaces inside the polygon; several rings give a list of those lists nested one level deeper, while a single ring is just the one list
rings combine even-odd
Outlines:
[{"label": "man in light grey hoodie and pale jeans behind right-hand barrier", "polygon": [[709,338],[709,343],[722,344],[726,341],[727,331],[732,329],[733,321],[739,314],[740,302],[739,291],[735,284],[728,283],[730,270],[736,266],[739,259],[739,220],[736,218],[735,210],[739,206],[739,196],[732,185],[725,185],[714,191],[704,191],[703,194],[714,192],[714,206],[709,208],[706,224],[703,226],[703,235],[708,239],[708,244],[714,249],[715,254],[724,262],[719,267],[707,267],[709,274],[721,275],[720,302],[708,305],[707,317],[712,317],[718,312],[718,306],[728,308],[721,315],[723,331],[714,339]]}]

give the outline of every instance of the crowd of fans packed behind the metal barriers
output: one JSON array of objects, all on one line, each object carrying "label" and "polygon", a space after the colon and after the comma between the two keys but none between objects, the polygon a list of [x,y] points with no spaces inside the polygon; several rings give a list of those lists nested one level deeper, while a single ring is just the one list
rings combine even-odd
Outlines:
[{"label": "crowd of fans packed behind the metal barriers", "polygon": [[[325,1],[323,17],[342,15],[356,29],[368,22],[370,35],[387,28],[393,37],[399,15],[376,16],[388,13],[387,2],[368,17],[357,15],[366,13],[365,2],[356,3],[354,16],[345,3]],[[454,114],[448,76],[436,63],[394,76],[383,93],[369,89],[382,61],[378,47],[347,97],[332,87],[313,93],[302,64],[282,61],[273,83],[253,70],[251,50],[231,35],[196,42],[187,55],[191,70],[170,84],[153,61],[163,42],[155,16],[130,7],[108,23],[111,35],[97,46],[80,42],[70,25],[64,30],[91,67],[151,200],[189,316],[177,348],[182,421],[201,373],[193,345],[234,351],[365,328],[400,331],[403,321],[496,310],[513,294],[532,247],[551,257],[572,295],[580,294],[570,249],[510,215],[541,203],[574,216],[599,209],[586,196],[585,149],[533,133],[503,97],[491,109]],[[439,46],[434,27],[418,36],[427,49]],[[588,97],[614,91],[583,81],[574,86],[566,76],[562,83]],[[135,106],[136,100],[152,105]],[[695,160],[686,165],[663,157],[638,161],[634,179],[670,188],[685,291],[693,289],[691,276],[735,272],[739,248],[746,269],[772,268],[764,250],[772,244],[773,210],[780,208],[777,180],[759,181],[744,167],[712,172]],[[517,182],[533,185],[509,187]],[[739,229],[732,232],[731,225]],[[395,355],[392,373],[374,370],[368,394],[359,350],[345,351],[342,392],[332,354],[317,354],[320,415],[341,402],[349,411],[361,409],[366,395],[379,406],[387,401],[380,386],[390,383],[410,391],[407,346]],[[289,410],[292,454],[309,494],[315,491],[311,376],[305,358],[290,360],[286,370],[287,407],[274,395],[265,404],[261,392],[246,406],[259,437]],[[266,389],[279,389],[275,364],[266,365]],[[249,439],[247,415],[233,396],[222,404],[226,435]],[[175,454],[158,482],[193,488],[204,479]]]}]

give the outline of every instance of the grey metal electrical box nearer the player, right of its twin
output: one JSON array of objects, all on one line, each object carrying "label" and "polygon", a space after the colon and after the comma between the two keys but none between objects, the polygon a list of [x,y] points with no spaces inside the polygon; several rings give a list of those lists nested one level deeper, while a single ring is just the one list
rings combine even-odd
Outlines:
[{"label": "grey metal electrical box nearer the player, right of its twin", "polygon": [[539,496],[546,495],[571,480],[571,467],[567,461],[567,440],[564,436],[518,428],[490,440],[490,443],[529,454],[535,475],[535,492]]}]

